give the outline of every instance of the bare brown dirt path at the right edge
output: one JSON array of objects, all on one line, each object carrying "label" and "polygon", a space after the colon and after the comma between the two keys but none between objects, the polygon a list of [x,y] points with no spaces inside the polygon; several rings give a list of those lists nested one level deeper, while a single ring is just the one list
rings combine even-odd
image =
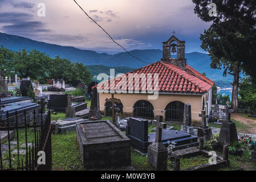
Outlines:
[{"label": "bare brown dirt path at the right edge", "polygon": [[231,118],[247,126],[246,130],[237,129],[238,133],[256,134],[256,120],[243,117],[237,113],[231,113]]}]

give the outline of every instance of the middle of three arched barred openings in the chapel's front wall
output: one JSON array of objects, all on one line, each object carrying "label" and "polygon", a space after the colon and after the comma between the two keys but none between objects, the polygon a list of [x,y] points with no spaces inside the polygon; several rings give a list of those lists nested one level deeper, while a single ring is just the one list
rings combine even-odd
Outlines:
[{"label": "middle of three arched barred openings in the chapel's front wall", "polygon": [[140,117],[140,118],[154,118],[154,107],[153,105],[145,100],[140,100],[135,103],[133,106],[133,117]]}]

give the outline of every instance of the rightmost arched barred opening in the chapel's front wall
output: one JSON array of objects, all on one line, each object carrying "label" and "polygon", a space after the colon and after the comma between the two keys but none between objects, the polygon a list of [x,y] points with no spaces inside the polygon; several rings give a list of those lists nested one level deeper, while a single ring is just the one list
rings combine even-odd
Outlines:
[{"label": "rightmost arched barred opening in the chapel's front wall", "polygon": [[183,122],[184,103],[180,101],[170,102],[165,107],[165,120]]}]

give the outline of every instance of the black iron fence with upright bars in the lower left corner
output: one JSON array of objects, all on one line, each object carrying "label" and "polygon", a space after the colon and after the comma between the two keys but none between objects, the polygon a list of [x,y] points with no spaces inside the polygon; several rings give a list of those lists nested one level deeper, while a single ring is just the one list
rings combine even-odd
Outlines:
[{"label": "black iron fence with upright bars in the lower left corner", "polygon": [[[24,122],[18,121],[18,112],[15,111],[15,122],[10,125],[10,114],[6,113],[6,127],[0,127],[0,131],[7,131],[7,141],[1,143],[0,139],[0,170],[18,171],[43,171],[52,169],[51,156],[51,114],[45,119],[41,112],[40,119],[36,119],[36,111],[33,112],[32,122],[27,121],[26,110],[23,114]],[[14,132],[14,140],[11,141],[11,133]],[[25,143],[23,143],[25,142]],[[21,145],[21,143],[23,143]],[[2,148],[3,147],[3,148]],[[25,149],[23,149],[25,148]],[[45,154],[45,164],[38,164],[38,152]],[[43,160],[43,159],[42,159]]]}]

